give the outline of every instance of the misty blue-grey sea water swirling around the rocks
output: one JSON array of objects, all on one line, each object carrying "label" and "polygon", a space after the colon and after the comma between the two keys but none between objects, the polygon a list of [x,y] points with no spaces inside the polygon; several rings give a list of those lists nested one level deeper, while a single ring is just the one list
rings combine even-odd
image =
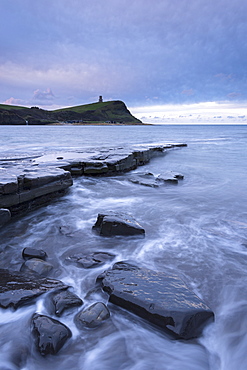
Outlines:
[{"label": "misty blue-grey sea water swirling around the rocks", "polygon": [[[95,288],[102,271],[135,260],[177,273],[211,307],[215,322],[198,339],[176,341],[112,304],[104,325],[79,331],[74,310],[60,319],[72,338],[56,356],[43,358],[30,333],[32,314],[47,313],[42,297],[17,311],[0,309],[1,370],[247,369],[247,126],[0,126],[0,159],[167,142],[188,147],[135,172],[176,171],[184,175],[178,185],[144,187],[129,182],[128,173],[76,178],[65,196],[0,230],[0,268],[19,270],[23,248],[44,249],[54,266],[50,276],[71,285],[86,307],[107,303]],[[97,214],[108,210],[131,213],[145,239],[94,234]],[[69,255],[91,251],[116,257],[94,269],[66,263]]]}]

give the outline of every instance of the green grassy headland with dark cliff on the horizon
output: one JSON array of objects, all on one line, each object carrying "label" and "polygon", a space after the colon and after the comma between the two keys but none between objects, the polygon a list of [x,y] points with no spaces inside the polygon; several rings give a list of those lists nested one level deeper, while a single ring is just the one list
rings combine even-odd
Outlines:
[{"label": "green grassy headland with dark cliff on the horizon", "polygon": [[0,124],[49,124],[56,122],[93,124],[96,122],[142,124],[120,101],[99,102],[47,111],[38,107],[26,108],[0,104]]}]

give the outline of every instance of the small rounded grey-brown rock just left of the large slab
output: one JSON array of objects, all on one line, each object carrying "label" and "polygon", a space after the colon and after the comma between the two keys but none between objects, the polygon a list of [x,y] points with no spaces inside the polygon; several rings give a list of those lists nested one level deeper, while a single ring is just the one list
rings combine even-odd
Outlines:
[{"label": "small rounded grey-brown rock just left of the large slab", "polygon": [[105,320],[109,319],[109,317],[110,312],[106,305],[102,302],[97,302],[86,310],[78,312],[74,321],[79,329],[83,329],[85,327],[95,328]]}]

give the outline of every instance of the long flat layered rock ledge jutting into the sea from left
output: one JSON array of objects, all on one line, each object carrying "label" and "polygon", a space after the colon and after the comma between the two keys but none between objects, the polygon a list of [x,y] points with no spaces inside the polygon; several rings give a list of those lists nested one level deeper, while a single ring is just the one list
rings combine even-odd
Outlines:
[{"label": "long flat layered rock ledge jutting into the sea from left", "polygon": [[186,144],[136,145],[86,152],[0,159],[0,226],[12,216],[48,204],[73,184],[72,176],[111,176],[131,171],[154,156]]}]

